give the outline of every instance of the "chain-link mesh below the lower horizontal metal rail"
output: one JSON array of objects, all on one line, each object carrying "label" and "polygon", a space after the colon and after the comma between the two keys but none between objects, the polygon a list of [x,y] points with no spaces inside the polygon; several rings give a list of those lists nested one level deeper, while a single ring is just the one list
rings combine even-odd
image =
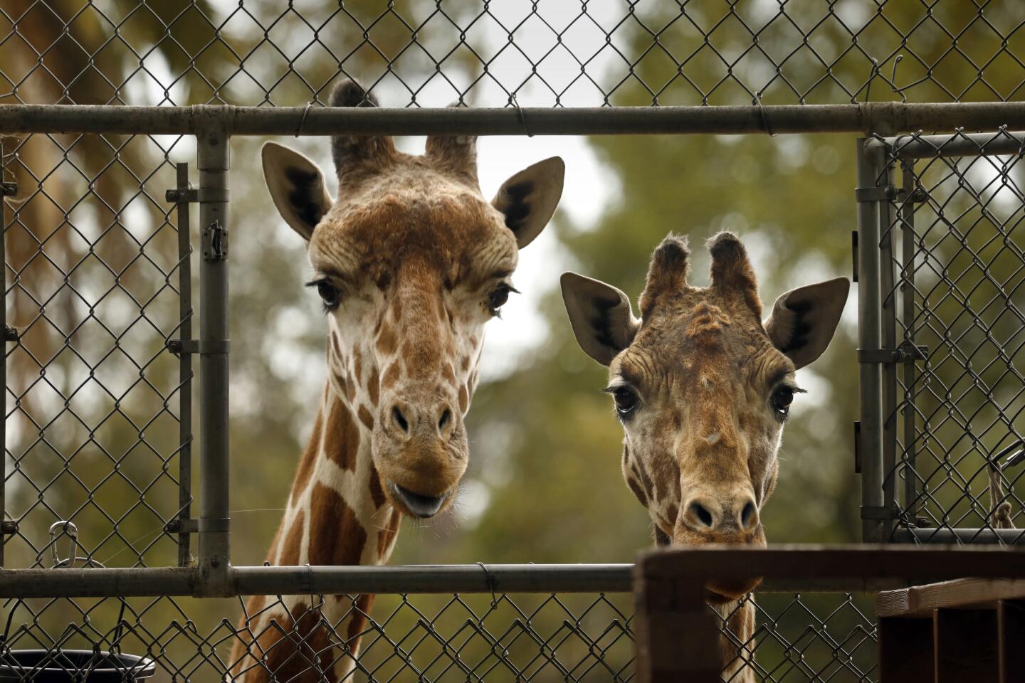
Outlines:
[{"label": "chain-link mesh below the lower horizontal metal rail", "polygon": [[[870,596],[766,594],[757,600],[758,629],[743,646],[754,653],[750,666],[758,680],[875,680],[875,624],[866,615]],[[326,601],[336,601],[340,615],[326,618]],[[11,603],[0,668],[13,663],[11,651],[60,647],[147,657],[155,663],[155,681],[232,680],[254,669],[287,672],[282,680],[288,680],[324,673],[336,663],[351,668],[340,680],[381,683],[634,678],[628,595],[381,595],[355,630],[348,617],[367,615],[358,596],[272,597],[248,612],[241,602],[158,597]],[[283,617],[286,612],[293,618]],[[239,613],[235,621],[225,616]],[[284,640],[269,644],[269,634]],[[237,644],[244,649],[233,651]],[[353,647],[359,649],[355,660]],[[59,667],[56,656],[50,665]]]}]

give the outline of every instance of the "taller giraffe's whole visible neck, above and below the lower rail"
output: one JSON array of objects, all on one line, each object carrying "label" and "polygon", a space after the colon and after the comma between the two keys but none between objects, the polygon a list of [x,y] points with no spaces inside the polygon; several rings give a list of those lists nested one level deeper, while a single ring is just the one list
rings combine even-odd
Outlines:
[{"label": "taller giraffe's whole visible neck, above and below the lower rail", "polygon": [[[373,420],[354,407],[352,384],[329,372],[314,430],[299,460],[272,565],[375,565],[387,561],[400,513],[384,497],[370,454]],[[359,416],[359,417],[358,417]],[[253,596],[232,649],[244,683],[344,679],[374,596]],[[330,625],[329,633],[325,625]],[[343,648],[331,643],[344,642]]]}]

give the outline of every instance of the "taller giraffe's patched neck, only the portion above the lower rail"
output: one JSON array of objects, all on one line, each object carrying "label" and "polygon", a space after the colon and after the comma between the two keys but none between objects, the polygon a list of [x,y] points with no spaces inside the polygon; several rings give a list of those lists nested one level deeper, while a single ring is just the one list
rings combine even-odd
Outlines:
[{"label": "taller giraffe's patched neck, only the portion above the lower rail", "polygon": [[400,513],[385,499],[370,455],[373,421],[333,379],[268,555],[272,565],[383,564],[395,547]]}]

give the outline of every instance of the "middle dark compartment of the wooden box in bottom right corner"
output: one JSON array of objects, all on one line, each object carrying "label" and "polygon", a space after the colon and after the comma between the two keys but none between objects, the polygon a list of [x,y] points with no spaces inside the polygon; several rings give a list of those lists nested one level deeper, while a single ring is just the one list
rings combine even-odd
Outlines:
[{"label": "middle dark compartment of the wooden box in bottom right corner", "polygon": [[996,681],[996,610],[937,609],[934,621],[936,683]]}]

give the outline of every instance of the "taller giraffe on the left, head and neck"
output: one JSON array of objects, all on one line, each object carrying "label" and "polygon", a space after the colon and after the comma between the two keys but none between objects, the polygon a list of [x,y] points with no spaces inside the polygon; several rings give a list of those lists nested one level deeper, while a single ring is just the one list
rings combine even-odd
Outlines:
[{"label": "taller giraffe on the left, head and neck", "polygon": [[[377,102],[346,80],[330,104]],[[306,243],[329,329],[327,378],[272,565],[383,564],[404,515],[452,504],[485,323],[517,292],[518,250],[550,219],[565,172],[558,157],[541,161],[489,203],[475,137],[428,137],[412,156],[387,136],[338,135],[331,152],[334,201],[305,157],[274,142],[261,153],[271,197]],[[228,680],[344,679],[372,602],[252,597]]]}]

